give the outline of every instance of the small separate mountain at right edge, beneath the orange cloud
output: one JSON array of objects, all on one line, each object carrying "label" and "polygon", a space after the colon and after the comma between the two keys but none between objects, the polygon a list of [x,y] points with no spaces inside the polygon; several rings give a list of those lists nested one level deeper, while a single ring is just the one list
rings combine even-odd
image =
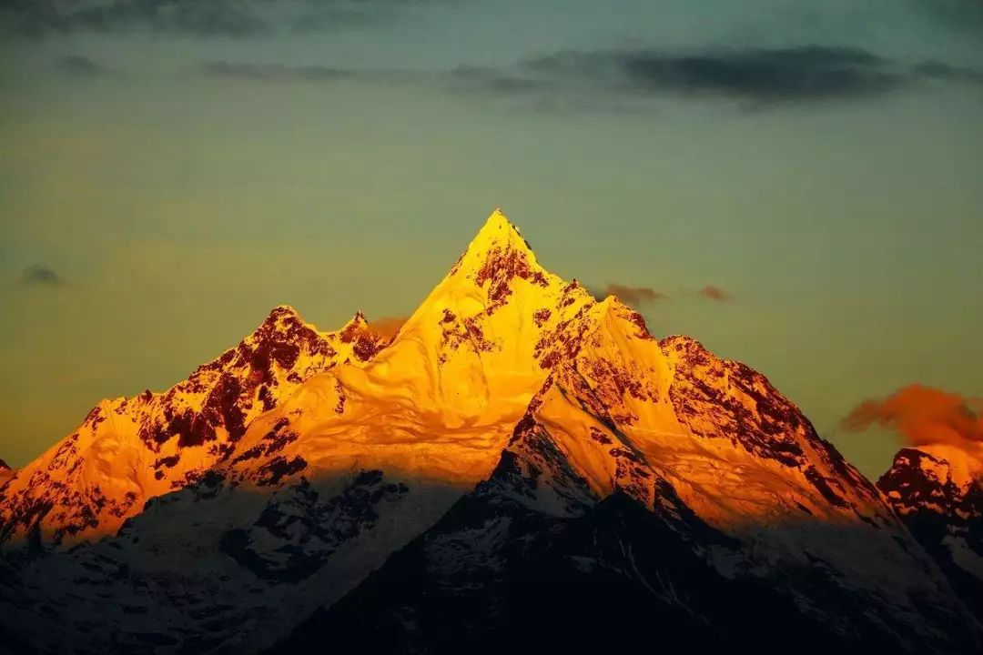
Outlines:
[{"label": "small separate mountain at right edge, beneath the orange cloud", "polygon": [[983,461],[961,448],[898,451],[877,482],[967,607],[983,607]]}]

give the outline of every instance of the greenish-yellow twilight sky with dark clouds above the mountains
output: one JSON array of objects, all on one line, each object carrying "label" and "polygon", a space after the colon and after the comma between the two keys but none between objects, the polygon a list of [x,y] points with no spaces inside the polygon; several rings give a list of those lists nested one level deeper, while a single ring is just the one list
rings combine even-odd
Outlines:
[{"label": "greenish-yellow twilight sky with dark clouds above the mountains", "polygon": [[983,395],[981,117],[979,0],[7,0],[0,458],[411,312],[500,206],[876,477],[860,404]]}]

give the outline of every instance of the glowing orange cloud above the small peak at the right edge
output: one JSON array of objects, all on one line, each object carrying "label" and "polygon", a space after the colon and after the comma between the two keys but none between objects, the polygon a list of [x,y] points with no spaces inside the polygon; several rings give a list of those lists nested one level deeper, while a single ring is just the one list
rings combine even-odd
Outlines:
[{"label": "glowing orange cloud above the small peak at the right edge", "polygon": [[909,385],[883,399],[864,401],[842,420],[850,432],[895,430],[910,446],[946,444],[963,451],[983,448],[983,399]]}]

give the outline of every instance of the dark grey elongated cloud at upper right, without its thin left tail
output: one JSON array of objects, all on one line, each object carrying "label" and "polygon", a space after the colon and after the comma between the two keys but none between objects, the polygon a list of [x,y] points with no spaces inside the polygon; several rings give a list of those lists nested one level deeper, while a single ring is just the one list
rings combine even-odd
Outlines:
[{"label": "dark grey elongated cloud at upper right, without its thin left tail", "polygon": [[919,82],[983,81],[983,72],[937,61],[907,65],[858,47],[658,48],[556,52],[510,71],[459,67],[457,90],[534,95],[536,106],[652,110],[674,97],[763,108],[879,97]]}]

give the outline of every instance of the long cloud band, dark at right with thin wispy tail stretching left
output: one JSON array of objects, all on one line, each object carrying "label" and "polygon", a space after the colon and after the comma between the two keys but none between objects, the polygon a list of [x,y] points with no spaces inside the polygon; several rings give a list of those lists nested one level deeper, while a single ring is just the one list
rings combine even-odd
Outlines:
[{"label": "long cloud band, dark at right with thin wispy tail stretching left", "polygon": [[732,101],[767,108],[884,95],[916,82],[983,86],[983,71],[939,61],[902,66],[866,50],[802,46],[778,49],[651,49],[561,52],[502,69],[457,66],[449,71],[343,69],[209,61],[213,78],[255,81],[426,84],[484,101],[559,111],[651,112],[665,97]]}]

